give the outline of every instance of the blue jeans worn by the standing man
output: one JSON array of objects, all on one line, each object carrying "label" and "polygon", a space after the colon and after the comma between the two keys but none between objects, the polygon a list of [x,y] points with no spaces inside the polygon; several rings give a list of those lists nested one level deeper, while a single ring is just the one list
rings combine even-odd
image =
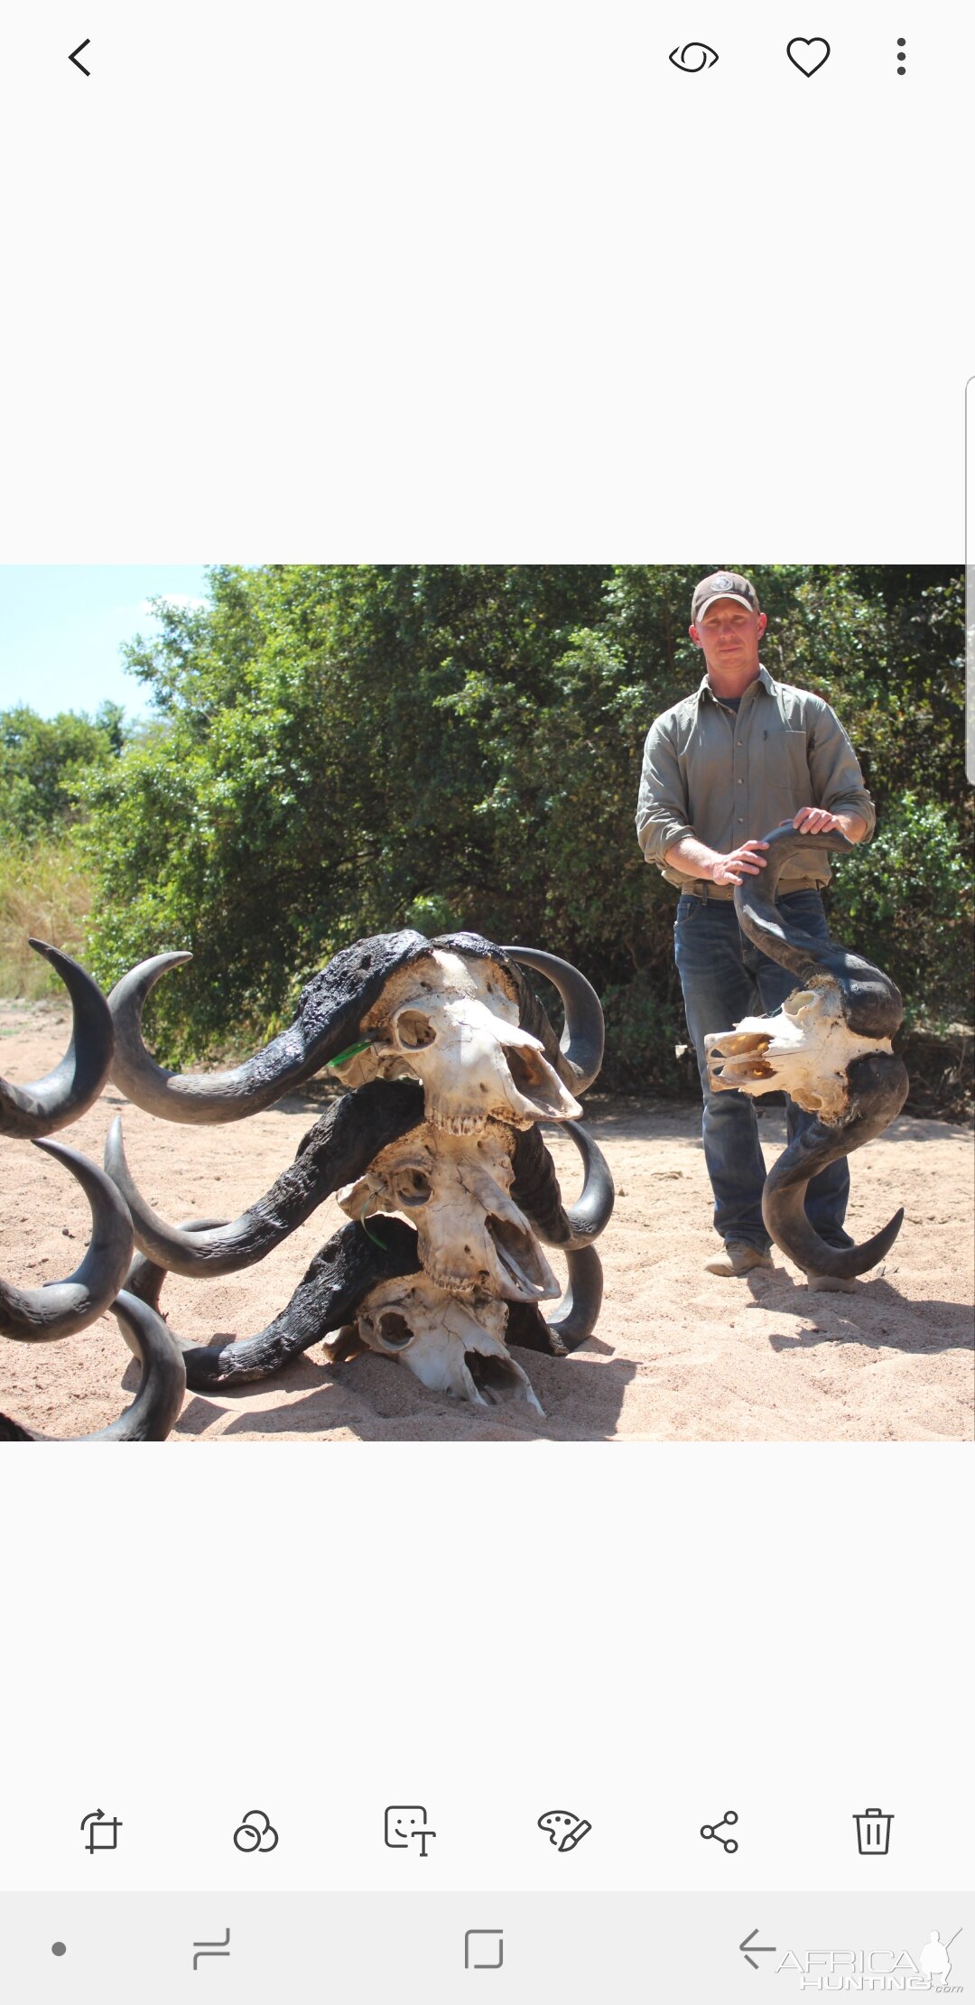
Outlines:
[{"label": "blue jeans worn by the standing man", "polygon": [[[829,938],[823,898],[815,890],[794,890],[776,898],[794,924]],[[764,1161],[758,1143],[754,1103],[746,1093],[712,1093],[704,1065],[704,1037],[730,1031],[742,1017],[768,1017],[798,986],[788,968],[752,946],[738,926],[730,898],[680,898],[674,922],[674,954],[684,990],[684,1015],[698,1055],[704,1093],[704,1161],[714,1191],[714,1231],[724,1241],[768,1247],[762,1219]],[[815,1115],[786,1101],[788,1141],[810,1127]],[[849,1247],[843,1229],[851,1175],[847,1157],[831,1163],[806,1189],[806,1217],[831,1247]]]}]

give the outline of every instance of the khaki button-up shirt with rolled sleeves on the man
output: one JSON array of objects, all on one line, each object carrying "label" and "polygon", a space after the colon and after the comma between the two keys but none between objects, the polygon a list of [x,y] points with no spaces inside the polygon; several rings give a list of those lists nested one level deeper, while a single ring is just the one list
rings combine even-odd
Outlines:
[{"label": "khaki button-up shirt with rolled sleeves on the man", "polygon": [[[690,890],[696,878],[664,862],[680,836],[696,836],[726,856],[740,842],[790,822],[798,808],[863,814],[873,836],[875,808],[857,754],[835,710],[808,690],[772,682],[760,668],[738,712],[714,696],[704,676],[650,726],[640,776],[636,834],[648,864],[668,884]],[[829,884],[819,850],[782,866],[780,884],[810,890]],[[720,886],[718,886],[720,892]]]}]

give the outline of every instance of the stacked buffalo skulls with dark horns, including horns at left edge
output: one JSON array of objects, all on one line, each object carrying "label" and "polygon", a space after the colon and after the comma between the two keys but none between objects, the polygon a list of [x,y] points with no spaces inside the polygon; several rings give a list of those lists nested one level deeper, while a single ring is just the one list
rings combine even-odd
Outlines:
[{"label": "stacked buffalo skulls with dark horns, including horns at left edge", "polygon": [[[564,1355],[590,1335],[602,1301],[592,1241],[614,1201],[608,1167],[578,1121],[578,1095],[602,1063],[602,1011],[576,968],[469,932],[377,934],[313,976],[295,1023],[257,1057],[229,1073],[177,1075],[150,1059],[140,1019],[152,984],[187,954],[142,962],[104,1000],[76,962],[40,950],[70,988],[74,1039],[46,1081],[0,1089],[0,1133],[36,1139],[64,1127],[90,1107],[108,1073],[138,1107],[183,1123],[245,1119],[323,1067],[347,1089],[273,1189],[233,1223],[158,1219],[128,1171],[120,1121],[104,1171],[40,1143],[86,1189],[92,1243],[66,1283],[28,1291],[0,1283],[0,1331],[58,1337],[112,1307],[142,1357],[142,1385],[108,1438],[160,1440],[185,1383],[267,1377],[325,1335],[333,1335],[333,1361],[373,1349],[437,1391],[477,1404],[514,1397],[540,1412],[508,1341]],[[520,962],[560,990],[562,1041]],[[564,1123],[582,1157],[584,1189],[570,1209],[540,1135],[544,1121]],[[158,1315],[167,1271],[223,1275],[253,1265],[331,1193],[349,1223],[267,1329],[223,1345],[171,1335]],[[138,1253],[128,1265],[132,1235]],[[562,1297],[542,1241],[566,1255]],[[544,1315],[540,1305],[552,1299]],[[34,1438],[12,1422],[4,1428],[8,1438]]]}]

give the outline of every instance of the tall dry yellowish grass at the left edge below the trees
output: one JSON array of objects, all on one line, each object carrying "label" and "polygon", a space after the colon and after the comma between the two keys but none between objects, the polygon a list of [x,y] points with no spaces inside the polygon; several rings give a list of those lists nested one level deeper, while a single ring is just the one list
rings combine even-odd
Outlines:
[{"label": "tall dry yellowish grass at the left edge below the trees", "polygon": [[28,934],[82,954],[90,902],[92,882],[70,834],[0,848],[0,996],[64,994]]}]

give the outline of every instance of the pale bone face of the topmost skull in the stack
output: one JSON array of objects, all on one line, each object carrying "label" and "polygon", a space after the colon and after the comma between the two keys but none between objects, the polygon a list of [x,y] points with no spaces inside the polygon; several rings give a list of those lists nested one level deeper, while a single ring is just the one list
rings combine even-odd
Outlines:
[{"label": "pale bone face of the topmost skull in the stack", "polygon": [[526,1129],[576,1121],[580,1103],[518,1023],[518,1000],[490,962],[431,948],[397,970],[363,1023],[371,1053],[337,1067],[343,1085],[413,1077],[427,1121],[447,1135],[479,1135],[488,1121]]}]

